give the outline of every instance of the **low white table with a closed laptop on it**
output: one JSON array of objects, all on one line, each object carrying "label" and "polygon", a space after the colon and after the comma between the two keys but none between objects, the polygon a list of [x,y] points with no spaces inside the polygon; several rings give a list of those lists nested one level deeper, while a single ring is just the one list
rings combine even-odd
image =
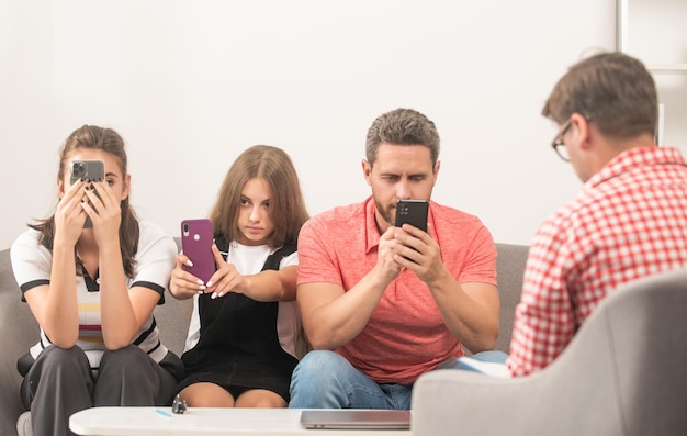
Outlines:
[{"label": "low white table with a closed laptop on it", "polygon": [[299,409],[204,409],[189,407],[184,414],[170,407],[93,407],[69,418],[69,428],[89,436],[177,436],[256,434],[307,436],[409,436],[405,429],[307,429],[301,426]]}]

